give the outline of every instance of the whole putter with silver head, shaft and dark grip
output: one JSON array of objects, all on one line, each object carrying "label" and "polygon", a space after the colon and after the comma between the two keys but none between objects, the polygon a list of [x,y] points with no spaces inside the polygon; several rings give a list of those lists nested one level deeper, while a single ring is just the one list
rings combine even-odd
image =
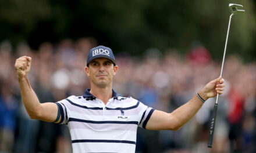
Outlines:
[{"label": "whole putter with silver head, shaft and dark grip", "polygon": [[[243,5],[234,4],[234,3],[229,4],[229,9],[232,14],[229,16],[229,26],[227,27],[226,43],[225,43],[223,60],[222,60],[222,65],[221,65],[221,75],[220,75],[221,77],[222,77],[223,65],[224,65],[224,61],[225,61],[227,39],[229,38],[229,27],[230,27],[230,22],[231,22],[232,16],[237,13],[245,12],[245,10],[237,9],[237,7],[243,8]],[[212,118],[210,120],[211,126],[210,126],[209,140],[208,140],[209,148],[212,148],[212,140],[214,139],[214,128],[215,128],[216,114],[217,114],[217,110],[218,110],[218,99],[219,99],[219,94],[217,94],[216,103],[214,104],[214,112],[212,113]]]}]

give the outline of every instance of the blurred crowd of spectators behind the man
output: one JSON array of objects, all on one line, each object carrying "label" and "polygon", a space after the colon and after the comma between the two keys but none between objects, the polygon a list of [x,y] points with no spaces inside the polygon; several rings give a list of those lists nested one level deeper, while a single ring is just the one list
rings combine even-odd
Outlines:
[{"label": "blurred crowd of spectators behind the man", "polygon": [[[44,42],[38,50],[26,43],[13,48],[0,43],[0,152],[72,152],[69,130],[30,119],[22,104],[14,68],[15,59],[32,57],[29,80],[41,103],[80,96],[90,88],[85,74],[94,38]],[[109,46],[111,48],[111,46]],[[115,53],[115,50],[113,50]],[[161,52],[150,48],[141,56],[115,54],[118,74],[113,89],[132,96],[158,110],[172,112],[221,72],[221,60],[193,43],[183,56],[178,50]],[[225,92],[219,97],[213,148],[207,148],[209,120],[215,99],[178,131],[150,131],[138,128],[136,152],[256,152],[256,63],[244,63],[239,56],[226,57],[223,78]]]}]

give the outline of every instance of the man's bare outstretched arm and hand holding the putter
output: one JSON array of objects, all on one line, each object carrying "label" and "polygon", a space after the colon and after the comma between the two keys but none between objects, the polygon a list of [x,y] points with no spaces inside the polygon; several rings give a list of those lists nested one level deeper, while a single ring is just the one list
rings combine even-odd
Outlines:
[{"label": "man's bare outstretched arm and hand holding the putter", "polygon": [[[209,82],[198,92],[202,99],[207,100],[222,94],[225,87],[224,79],[219,77]],[[178,130],[187,123],[202,107],[202,100],[195,95],[189,102],[177,108],[172,113],[155,110],[146,125],[149,130]]]}]

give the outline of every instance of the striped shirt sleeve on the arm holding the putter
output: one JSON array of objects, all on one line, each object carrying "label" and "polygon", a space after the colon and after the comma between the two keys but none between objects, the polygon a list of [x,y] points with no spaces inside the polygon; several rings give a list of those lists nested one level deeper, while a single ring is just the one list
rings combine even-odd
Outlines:
[{"label": "striped shirt sleeve on the arm holding the putter", "polygon": [[138,123],[138,126],[140,126],[140,128],[145,129],[148,120],[150,119],[152,113],[154,112],[154,108],[148,107],[147,105],[144,105],[141,102],[138,108],[141,109],[140,122]]}]

